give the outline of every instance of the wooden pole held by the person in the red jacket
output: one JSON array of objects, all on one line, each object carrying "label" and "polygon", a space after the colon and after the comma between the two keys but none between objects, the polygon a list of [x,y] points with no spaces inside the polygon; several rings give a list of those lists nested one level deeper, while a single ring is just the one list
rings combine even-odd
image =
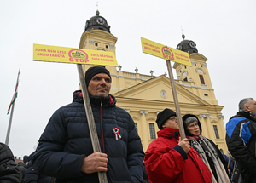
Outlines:
[{"label": "wooden pole held by the person in the red jacket", "polygon": [[172,75],[171,61],[166,60],[166,65],[167,65],[167,69],[169,72],[169,77],[170,77],[170,82],[171,82],[171,87],[172,87],[172,95],[173,95],[173,100],[174,100],[174,105],[175,105],[175,110],[176,110],[176,115],[177,115],[179,134],[180,134],[181,140],[183,140],[186,137],[186,134],[184,131],[183,119],[181,117],[181,112],[180,112],[180,108],[179,108],[179,104],[178,104],[178,100],[177,100],[177,92],[176,92],[176,87],[175,87],[175,83],[174,83],[174,79],[173,79],[173,75]]}]

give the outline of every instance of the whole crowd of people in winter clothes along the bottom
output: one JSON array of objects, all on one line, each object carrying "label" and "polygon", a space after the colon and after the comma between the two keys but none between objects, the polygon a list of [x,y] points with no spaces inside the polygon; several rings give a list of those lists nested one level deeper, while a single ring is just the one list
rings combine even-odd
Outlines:
[{"label": "whole crowd of people in winter clothes along the bottom", "polygon": [[15,163],[13,153],[0,143],[0,183],[99,182],[256,182],[256,101],[246,98],[226,124],[229,153],[202,135],[193,114],[182,117],[186,137],[181,139],[177,114],[164,109],[157,115],[160,131],[143,152],[141,139],[128,112],[109,94],[111,76],[102,66],[85,72],[92,115],[102,152],[90,140],[84,98],[74,91],[73,103],[62,106],[49,119],[37,150]]}]

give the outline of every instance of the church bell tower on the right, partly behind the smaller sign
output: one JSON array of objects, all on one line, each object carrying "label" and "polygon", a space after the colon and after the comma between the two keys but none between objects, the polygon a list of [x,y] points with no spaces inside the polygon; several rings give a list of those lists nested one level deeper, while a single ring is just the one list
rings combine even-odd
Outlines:
[{"label": "church bell tower on the right, partly behind the smaller sign", "polygon": [[207,58],[198,53],[194,41],[184,39],[185,35],[182,37],[183,41],[177,44],[177,49],[189,53],[192,66],[174,64],[173,68],[176,70],[178,83],[210,104],[218,105],[207,69]]}]

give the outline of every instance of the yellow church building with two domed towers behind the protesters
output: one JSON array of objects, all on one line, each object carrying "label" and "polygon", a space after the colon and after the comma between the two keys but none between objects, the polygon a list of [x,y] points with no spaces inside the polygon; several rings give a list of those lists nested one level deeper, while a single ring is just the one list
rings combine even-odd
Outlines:
[{"label": "yellow church building with two domed towers behind the protesters", "polygon": [[[110,33],[107,20],[99,15],[86,21],[79,48],[110,51],[115,54],[117,38]],[[175,86],[181,115],[191,113],[201,121],[202,134],[215,142],[222,152],[227,151],[225,129],[221,110],[212,89],[207,70],[207,58],[199,54],[195,43],[183,40],[177,49],[189,53],[192,66],[175,63],[177,80]],[[90,65],[84,66],[86,71]],[[121,66],[106,66],[112,77],[110,94],[117,100],[117,106],[129,112],[141,137],[143,150],[157,138],[159,131],[155,123],[158,112],[165,108],[175,111],[170,80],[166,75],[155,77],[137,71],[122,71]]]}]

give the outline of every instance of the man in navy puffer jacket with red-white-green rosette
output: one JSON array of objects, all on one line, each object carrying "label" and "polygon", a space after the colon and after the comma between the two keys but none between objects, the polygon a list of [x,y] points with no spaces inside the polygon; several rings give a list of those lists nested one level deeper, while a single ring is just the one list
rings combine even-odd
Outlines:
[{"label": "man in navy puffer jacket with red-white-green rosette", "polygon": [[83,94],[75,91],[73,103],[62,106],[49,119],[32,159],[35,169],[56,177],[57,182],[99,182],[99,171],[107,173],[108,182],[142,182],[141,140],[130,115],[115,106],[116,100],[109,94],[109,71],[90,67],[85,83],[102,152],[93,152]]}]

